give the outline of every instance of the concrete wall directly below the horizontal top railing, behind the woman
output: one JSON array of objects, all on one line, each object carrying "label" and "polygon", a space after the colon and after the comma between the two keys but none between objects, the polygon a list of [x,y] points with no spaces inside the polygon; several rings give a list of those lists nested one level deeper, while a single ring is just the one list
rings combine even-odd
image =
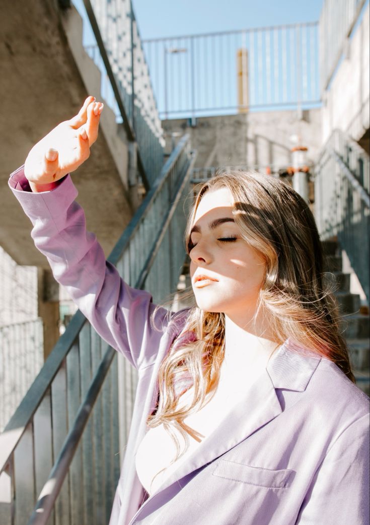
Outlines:
[{"label": "concrete wall directly below the horizontal top railing, behind the woman", "polygon": [[203,117],[192,127],[187,119],[163,121],[166,150],[171,140],[187,132],[198,151],[196,167],[270,166],[280,169],[292,164],[291,148],[300,142],[313,164],[321,139],[320,109],[250,112],[220,117]]}]

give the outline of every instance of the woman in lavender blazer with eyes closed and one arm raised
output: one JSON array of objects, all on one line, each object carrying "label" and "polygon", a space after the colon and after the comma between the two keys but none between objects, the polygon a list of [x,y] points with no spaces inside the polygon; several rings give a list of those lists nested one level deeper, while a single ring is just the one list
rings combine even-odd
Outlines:
[{"label": "woman in lavender blazer with eyes closed and one arm raised", "polygon": [[186,232],[197,307],[155,308],[73,202],[67,174],[88,158],[101,110],[89,97],[9,185],[56,279],[139,370],[110,524],[368,523],[368,398],[308,206],[268,176],[208,182]]}]

